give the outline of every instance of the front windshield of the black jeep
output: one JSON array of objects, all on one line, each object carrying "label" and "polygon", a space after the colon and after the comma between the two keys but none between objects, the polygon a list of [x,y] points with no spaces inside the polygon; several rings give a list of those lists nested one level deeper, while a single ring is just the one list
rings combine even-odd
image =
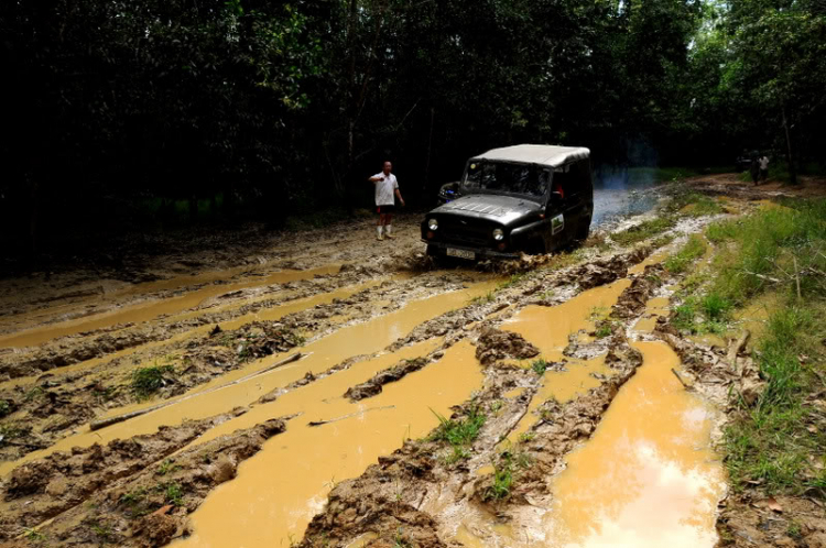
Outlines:
[{"label": "front windshield of the black jeep", "polygon": [[466,193],[520,194],[541,198],[547,190],[547,172],[533,164],[470,162],[461,187]]}]

